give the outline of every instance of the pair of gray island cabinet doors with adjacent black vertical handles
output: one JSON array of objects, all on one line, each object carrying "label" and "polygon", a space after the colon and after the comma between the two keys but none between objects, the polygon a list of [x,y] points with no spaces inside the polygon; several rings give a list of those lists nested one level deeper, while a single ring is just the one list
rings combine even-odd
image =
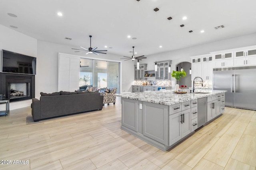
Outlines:
[{"label": "pair of gray island cabinet doors with adjacent black vertical handles", "polygon": [[191,109],[169,115],[169,146],[191,133]]}]

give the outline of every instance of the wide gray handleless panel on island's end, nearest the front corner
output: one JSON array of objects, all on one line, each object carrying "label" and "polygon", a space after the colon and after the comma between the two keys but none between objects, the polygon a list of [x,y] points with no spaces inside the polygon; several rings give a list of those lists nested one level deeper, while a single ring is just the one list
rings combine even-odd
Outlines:
[{"label": "wide gray handleless panel on island's end, nearest the front corner", "polygon": [[168,145],[168,106],[143,102],[143,135]]}]

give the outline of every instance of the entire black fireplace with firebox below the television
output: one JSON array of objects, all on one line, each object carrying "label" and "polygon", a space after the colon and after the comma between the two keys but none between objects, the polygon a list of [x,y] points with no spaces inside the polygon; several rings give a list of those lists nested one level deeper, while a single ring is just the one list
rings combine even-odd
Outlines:
[{"label": "entire black fireplace with firebox below the television", "polygon": [[35,76],[26,74],[0,73],[0,94],[10,102],[29,100],[35,97]]}]

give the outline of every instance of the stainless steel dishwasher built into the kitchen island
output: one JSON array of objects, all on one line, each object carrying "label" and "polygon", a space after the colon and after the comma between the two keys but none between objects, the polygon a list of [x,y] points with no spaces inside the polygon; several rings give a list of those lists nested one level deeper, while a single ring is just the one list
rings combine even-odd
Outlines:
[{"label": "stainless steel dishwasher built into the kitchen island", "polygon": [[206,123],[206,97],[197,100],[197,121],[198,127]]}]

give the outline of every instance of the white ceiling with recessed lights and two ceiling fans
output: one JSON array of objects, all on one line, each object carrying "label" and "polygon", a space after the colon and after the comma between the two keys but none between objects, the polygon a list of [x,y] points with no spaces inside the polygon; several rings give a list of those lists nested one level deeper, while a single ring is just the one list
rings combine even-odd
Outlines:
[{"label": "white ceiling with recessed lights and two ceiling fans", "polygon": [[[1,0],[0,24],[73,48],[88,49],[92,35],[97,50],[131,56],[135,46],[140,56],[255,33],[255,6],[255,0]],[[214,29],[219,25],[225,27]]]}]

